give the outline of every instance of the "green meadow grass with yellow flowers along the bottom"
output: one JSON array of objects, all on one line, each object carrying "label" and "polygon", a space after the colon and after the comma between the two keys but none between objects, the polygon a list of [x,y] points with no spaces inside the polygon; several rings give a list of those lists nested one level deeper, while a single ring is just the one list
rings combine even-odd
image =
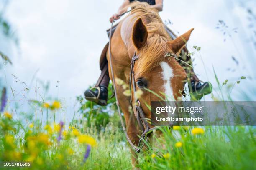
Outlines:
[{"label": "green meadow grass with yellow flowers along the bottom", "polygon": [[[55,102],[56,103],[56,102]],[[59,105],[47,107],[49,114],[57,112]],[[0,118],[0,161],[31,161],[30,168],[12,169],[131,169],[131,155],[120,128],[112,122],[104,128],[87,122],[72,122],[62,129],[62,139],[57,138],[60,124],[41,120],[28,120],[24,126],[5,112]],[[138,168],[146,169],[256,169],[256,129],[243,126],[226,127],[161,127],[161,138],[153,136],[154,143],[164,147],[148,149],[139,153]],[[90,135],[97,142],[89,158],[83,157],[87,143],[79,143],[79,136]],[[89,141],[90,143],[90,141]]]}]

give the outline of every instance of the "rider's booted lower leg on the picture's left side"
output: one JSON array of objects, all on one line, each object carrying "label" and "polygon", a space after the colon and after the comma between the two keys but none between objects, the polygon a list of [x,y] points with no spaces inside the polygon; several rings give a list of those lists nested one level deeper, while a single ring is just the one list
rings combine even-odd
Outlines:
[{"label": "rider's booted lower leg on the picture's left side", "polygon": [[105,106],[108,101],[108,84],[110,78],[108,75],[108,63],[102,69],[99,80],[95,87],[87,89],[84,92],[84,96],[87,100],[96,102],[98,105]]}]

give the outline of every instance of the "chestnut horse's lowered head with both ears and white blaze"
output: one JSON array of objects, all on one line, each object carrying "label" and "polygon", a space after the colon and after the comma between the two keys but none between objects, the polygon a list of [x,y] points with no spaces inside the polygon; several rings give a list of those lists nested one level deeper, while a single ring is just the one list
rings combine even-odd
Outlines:
[{"label": "chestnut horse's lowered head with both ears and white blaze", "polygon": [[[147,26],[148,27],[148,26]],[[151,101],[181,100],[187,74],[175,59],[189,40],[193,28],[174,40],[166,39],[164,27],[147,29],[143,20],[139,18],[133,25],[132,41],[136,47],[138,60],[134,64],[134,81],[136,89],[143,93],[140,104],[146,118],[151,118],[148,105]],[[152,31],[153,30],[153,31]],[[166,55],[166,54],[172,54]],[[136,95],[132,92],[133,105]],[[135,107],[133,107],[135,108]]]}]

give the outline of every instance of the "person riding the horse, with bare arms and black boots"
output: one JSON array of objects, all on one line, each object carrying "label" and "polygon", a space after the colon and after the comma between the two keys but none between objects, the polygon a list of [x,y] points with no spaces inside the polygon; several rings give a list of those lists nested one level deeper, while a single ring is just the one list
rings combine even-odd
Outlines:
[{"label": "person riding the horse, with bare arms and black boots", "polygon": [[[113,20],[119,19],[120,15],[127,11],[128,6],[133,1],[135,1],[135,0],[124,0],[123,4],[118,9],[118,13],[115,13],[110,17],[110,19],[109,19],[110,23],[112,23]],[[151,7],[155,8],[158,11],[163,10],[163,0],[138,0],[138,1],[147,2]],[[171,35],[171,33],[169,33],[169,34],[170,34],[170,37],[173,38],[173,35]],[[186,52],[185,57],[180,57],[179,59],[184,62],[188,62],[189,64],[192,64],[191,57],[189,55],[187,55],[187,53],[188,53],[187,49],[186,48],[184,48],[184,49],[185,49],[184,51]],[[184,53],[184,51],[183,51],[183,53]],[[179,60],[178,60],[178,62],[179,62]],[[182,62],[179,62],[179,63],[180,63],[180,65],[184,66],[184,64]],[[106,67],[106,69],[107,69],[107,67]],[[96,102],[98,105],[107,105],[108,84],[109,84],[110,78],[108,75],[108,71],[106,71],[106,69],[105,69],[105,71],[103,71],[104,69],[102,69],[102,67],[101,67],[102,73],[98,80],[99,83],[97,82],[97,84],[99,84],[98,87],[92,87],[91,89],[87,89],[84,92],[84,96],[87,100]],[[210,82],[201,83],[200,80],[198,79],[198,77],[195,75],[193,69],[187,69],[186,71],[188,73],[188,76],[190,77],[190,81],[189,81],[190,82],[190,85],[189,85],[190,95],[192,97],[194,97],[194,100],[200,100],[203,97],[203,95],[207,95],[210,92],[212,92],[212,85],[210,84]]]}]

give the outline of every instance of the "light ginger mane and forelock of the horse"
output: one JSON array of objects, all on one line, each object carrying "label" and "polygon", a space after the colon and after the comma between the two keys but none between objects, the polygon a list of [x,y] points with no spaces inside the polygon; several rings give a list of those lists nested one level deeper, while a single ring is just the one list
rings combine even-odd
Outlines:
[{"label": "light ginger mane and forelock of the horse", "polygon": [[146,2],[138,1],[131,3],[131,9],[131,20],[141,18],[148,31],[147,43],[139,50],[138,74],[142,75],[159,66],[164,60],[166,52],[170,51],[166,42],[171,39],[156,9]]}]

